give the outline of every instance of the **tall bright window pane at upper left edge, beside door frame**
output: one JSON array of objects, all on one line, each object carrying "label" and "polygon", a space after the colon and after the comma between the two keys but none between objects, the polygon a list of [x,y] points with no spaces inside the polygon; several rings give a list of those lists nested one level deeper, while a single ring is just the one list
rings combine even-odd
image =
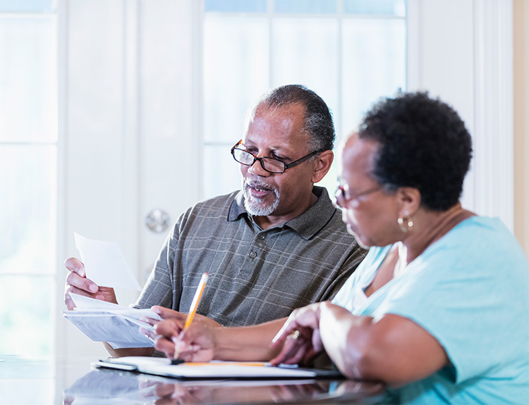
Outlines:
[{"label": "tall bright window pane at upper left edge, beside door frame", "polygon": [[0,18],[0,142],[56,142],[55,18]]}]

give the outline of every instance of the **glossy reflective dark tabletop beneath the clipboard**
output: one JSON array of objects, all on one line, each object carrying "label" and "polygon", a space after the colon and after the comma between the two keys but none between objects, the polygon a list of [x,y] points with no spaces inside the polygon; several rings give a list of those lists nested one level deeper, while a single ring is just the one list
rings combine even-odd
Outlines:
[{"label": "glossy reflective dark tabletop beneath the clipboard", "polygon": [[375,404],[351,380],[194,380],[101,370],[95,358],[0,356],[0,404]]}]

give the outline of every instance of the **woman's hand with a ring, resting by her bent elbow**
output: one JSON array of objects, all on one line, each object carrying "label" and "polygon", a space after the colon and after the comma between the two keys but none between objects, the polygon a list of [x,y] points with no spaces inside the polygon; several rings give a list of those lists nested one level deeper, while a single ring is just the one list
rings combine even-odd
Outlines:
[{"label": "woman's hand with a ring, resting by her bent elbow", "polygon": [[272,341],[272,347],[283,345],[270,362],[308,365],[323,350],[320,336],[320,309],[317,303],[294,310]]}]

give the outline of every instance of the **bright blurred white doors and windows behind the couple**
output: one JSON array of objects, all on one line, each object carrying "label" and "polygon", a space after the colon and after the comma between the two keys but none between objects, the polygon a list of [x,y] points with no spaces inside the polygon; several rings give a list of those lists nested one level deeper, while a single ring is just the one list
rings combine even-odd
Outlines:
[{"label": "bright blurred white doors and windows behind the couple", "polygon": [[0,0],[0,354],[104,356],[61,316],[73,232],[143,285],[178,216],[240,187],[246,109],[289,83],[336,145],[398,89],[449,102],[474,140],[463,205],[529,256],[528,47],[527,0]]}]

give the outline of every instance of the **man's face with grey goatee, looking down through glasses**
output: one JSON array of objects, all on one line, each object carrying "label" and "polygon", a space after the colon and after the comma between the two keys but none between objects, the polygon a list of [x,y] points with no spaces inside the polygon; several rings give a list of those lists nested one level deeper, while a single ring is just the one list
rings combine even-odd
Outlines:
[{"label": "man's face with grey goatee, looking down through glasses", "polygon": [[[257,157],[296,161],[312,150],[309,136],[301,132],[305,107],[300,104],[281,109],[259,106],[248,125],[242,147]],[[273,223],[284,223],[303,213],[312,199],[312,174],[316,164],[309,159],[284,173],[269,173],[260,162],[241,165],[245,208],[253,216],[272,216]]]}]

